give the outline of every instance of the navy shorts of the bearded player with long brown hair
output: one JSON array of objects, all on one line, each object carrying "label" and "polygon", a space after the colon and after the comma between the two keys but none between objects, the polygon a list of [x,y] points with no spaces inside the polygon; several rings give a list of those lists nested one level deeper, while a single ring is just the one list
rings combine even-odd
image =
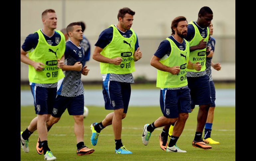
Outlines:
[{"label": "navy shorts of the bearded player with long brown hair", "polygon": [[160,107],[166,118],[178,118],[180,113],[191,113],[190,89],[160,90]]}]

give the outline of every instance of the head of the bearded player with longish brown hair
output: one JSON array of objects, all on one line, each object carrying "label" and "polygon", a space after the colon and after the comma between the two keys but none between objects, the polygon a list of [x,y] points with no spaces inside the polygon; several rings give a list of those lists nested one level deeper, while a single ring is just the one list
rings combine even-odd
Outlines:
[{"label": "head of the bearded player with longish brown hair", "polygon": [[171,25],[172,35],[179,35],[184,38],[188,34],[188,21],[184,16],[175,17]]}]

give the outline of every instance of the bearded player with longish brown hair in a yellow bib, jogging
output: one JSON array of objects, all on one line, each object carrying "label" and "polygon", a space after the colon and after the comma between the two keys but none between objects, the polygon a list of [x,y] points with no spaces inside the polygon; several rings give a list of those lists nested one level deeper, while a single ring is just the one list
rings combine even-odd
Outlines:
[{"label": "bearded player with longish brown hair in a yellow bib, jogging", "polygon": [[[145,124],[142,133],[142,143],[148,145],[151,133],[157,127],[165,126],[159,135],[160,147],[167,152],[182,152],[176,146],[185,123],[191,112],[190,89],[186,77],[186,68],[199,71],[201,64],[189,61],[190,45],[183,38],[187,36],[187,19],[178,16],[172,21],[172,35],[163,40],[150,64],[157,68],[157,87],[160,89],[160,107],[163,116],[151,124]],[[176,122],[177,121],[177,122]],[[175,123],[169,145],[167,145],[168,130]]]}]

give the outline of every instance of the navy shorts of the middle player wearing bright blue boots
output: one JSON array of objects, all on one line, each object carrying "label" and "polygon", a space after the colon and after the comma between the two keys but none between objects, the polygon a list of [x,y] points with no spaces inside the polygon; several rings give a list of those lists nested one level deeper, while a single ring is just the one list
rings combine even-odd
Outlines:
[{"label": "navy shorts of the middle player wearing bright blue boots", "polygon": [[106,110],[124,109],[124,113],[127,113],[131,96],[130,83],[103,81],[102,89]]}]

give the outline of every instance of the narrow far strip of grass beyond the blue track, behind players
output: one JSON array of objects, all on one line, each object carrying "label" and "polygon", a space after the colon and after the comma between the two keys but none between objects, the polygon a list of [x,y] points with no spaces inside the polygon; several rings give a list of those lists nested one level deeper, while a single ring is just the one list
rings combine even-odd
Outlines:
[{"label": "narrow far strip of grass beyond the blue track, behind players", "polygon": [[[214,83],[215,88],[219,89],[234,89],[235,83]],[[84,89],[102,89],[101,84],[88,84],[83,85]],[[131,84],[132,89],[159,89],[156,87],[155,83],[145,83],[145,84]],[[30,90],[29,85],[21,85],[21,90]]]}]

